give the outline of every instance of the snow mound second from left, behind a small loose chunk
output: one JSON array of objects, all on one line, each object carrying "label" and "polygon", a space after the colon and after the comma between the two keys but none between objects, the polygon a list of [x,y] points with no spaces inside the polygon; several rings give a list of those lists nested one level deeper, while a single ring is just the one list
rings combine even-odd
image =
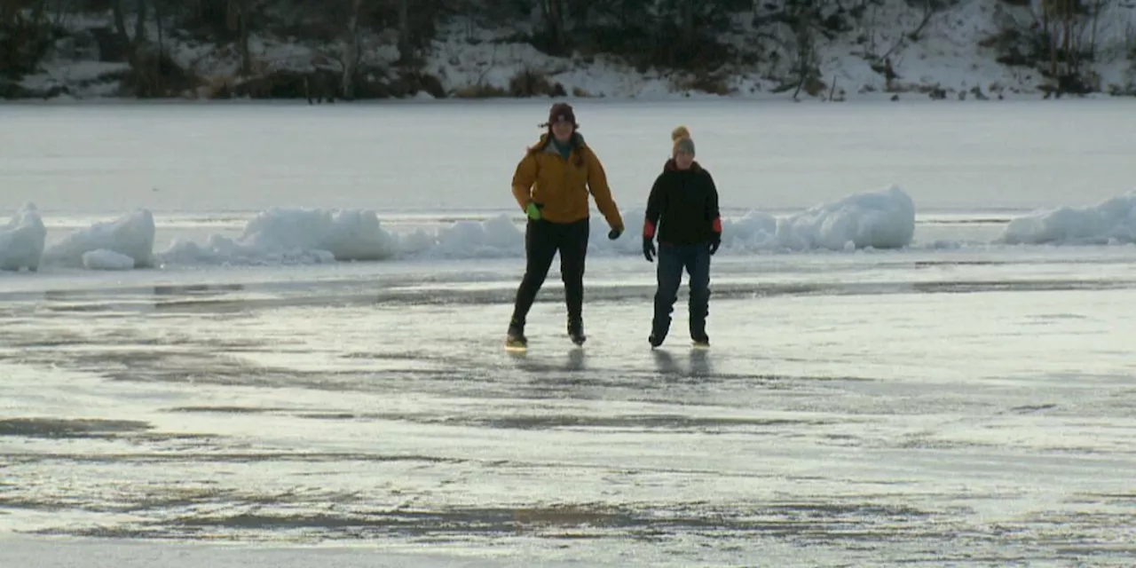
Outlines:
[{"label": "snow mound second from left, behind a small loose chunk", "polygon": [[[43,261],[68,267],[85,267],[84,254],[109,251],[130,257],[135,267],[153,266],[153,215],[147,209],[135,210],[112,222],[95,223],[76,231],[51,245],[43,253]],[[106,254],[98,254],[106,259]]]}]

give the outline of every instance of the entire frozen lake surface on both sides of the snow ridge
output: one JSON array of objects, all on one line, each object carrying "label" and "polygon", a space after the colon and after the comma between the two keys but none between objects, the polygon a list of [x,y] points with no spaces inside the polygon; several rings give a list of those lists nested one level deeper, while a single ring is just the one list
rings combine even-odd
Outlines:
[{"label": "entire frozen lake surface on both sides of the snow ridge", "polygon": [[[627,211],[677,123],[727,227],[911,195],[897,250],[728,243],[710,350],[685,295],[648,349],[630,214],[632,252],[588,259],[587,344],[553,268],[524,354],[501,349],[512,241],[0,273],[0,566],[1125,566],[1128,201],[1019,225],[1103,227],[1079,241],[1003,237],[1125,194],[1129,107],[580,103]],[[145,208],[156,251],[276,206],[374,209],[400,235],[519,216],[508,181],[545,109],[0,107],[0,210],[34,201],[50,244]]]}]

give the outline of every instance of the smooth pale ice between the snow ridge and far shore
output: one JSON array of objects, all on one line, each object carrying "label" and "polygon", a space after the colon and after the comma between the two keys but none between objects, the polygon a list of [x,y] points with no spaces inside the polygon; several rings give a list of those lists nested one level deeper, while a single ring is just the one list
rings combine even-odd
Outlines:
[{"label": "smooth pale ice between the snow ridge and far shore", "polygon": [[[374,209],[384,222],[392,212],[511,216],[509,178],[549,103],[16,105],[0,132],[0,210],[34,201],[45,216],[143,207],[248,218],[278,206]],[[573,103],[620,210],[646,206],[677,123],[694,133],[732,216],[801,211],[892,184],[920,212],[1017,215],[1133,184],[1125,149],[1136,112],[1120,98]],[[438,156],[442,147],[460,151]]]}]

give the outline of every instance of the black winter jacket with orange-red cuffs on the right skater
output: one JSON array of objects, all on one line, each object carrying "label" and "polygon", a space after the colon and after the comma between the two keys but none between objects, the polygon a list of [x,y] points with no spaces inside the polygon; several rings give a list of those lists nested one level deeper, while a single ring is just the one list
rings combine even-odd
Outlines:
[{"label": "black winter jacket with orange-red cuffs on the right skater", "polygon": [[710,172],[698,162],[683,170],[674,159],[667,160],[655,178],[646,202],[643,236],[651,239],[657,233],[659,242],[668,244],[698,244],[721,236],[718,189]]}]

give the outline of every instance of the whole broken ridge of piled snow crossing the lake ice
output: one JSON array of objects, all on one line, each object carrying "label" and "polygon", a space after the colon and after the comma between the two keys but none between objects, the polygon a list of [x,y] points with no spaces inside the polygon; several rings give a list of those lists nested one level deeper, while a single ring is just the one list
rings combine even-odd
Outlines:
[{"label": "whole broken ridge of piled snow crossing the lake ice", "polygon": [[[627,231],[608,239],[603,217],[592,218],[590,250],[598,254],[637,254],[635,228],[642,210],[623,211]],[[912,243],[916,208],[901,187],[853,193],[804,211],[774,216],[751,211],[724,222],[722,251],[852,251],[903,249]],[[369,209],[273,208],[249,220],[236,239],[219,234],[198,243],[174,241],[153,253],[154,222],[140,209],[115,222],[95,224],[43,250],[45,229],[33,206],[0,226],[0,267],[66,267],[127,270],[161,265],[296,265],[393,258],[477,259],[520,257],[524,231],[500,215],[461,220],[434,231],[395,233],[383,228]],[[1136,242],[1136,191],[1096,206],[1063,207],[1013,219],[1000,244],[1116,244]],[[938,247],[938,245],[936,245]]]}]

